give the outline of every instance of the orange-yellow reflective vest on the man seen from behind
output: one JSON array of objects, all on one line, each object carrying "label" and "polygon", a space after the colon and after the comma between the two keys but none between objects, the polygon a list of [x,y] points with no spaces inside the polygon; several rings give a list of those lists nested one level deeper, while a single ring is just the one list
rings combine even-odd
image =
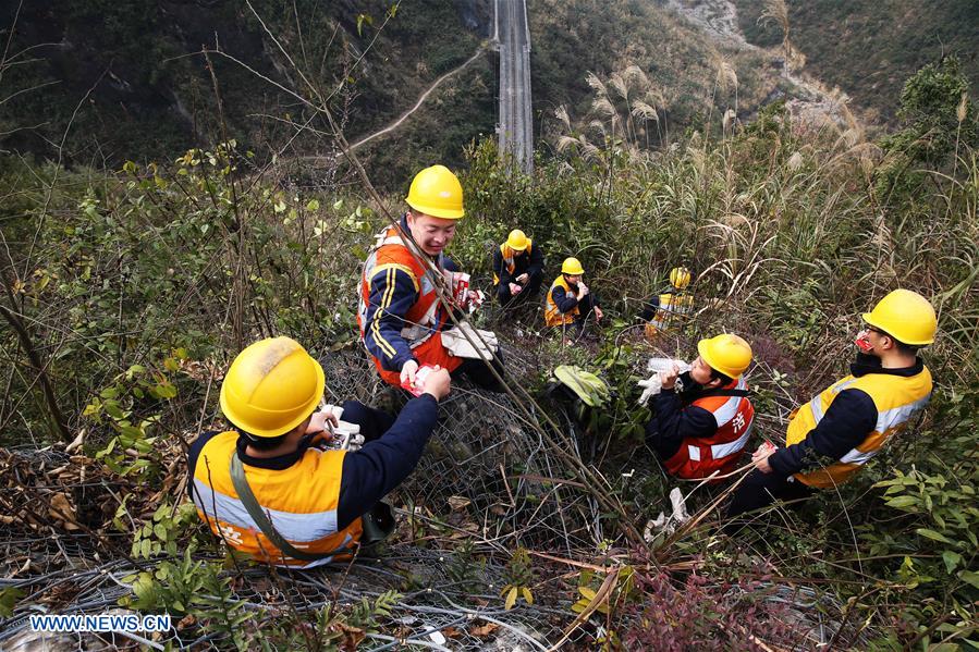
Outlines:
[{"label": "orange-yellow reflective vest on the man seen from behind", "polygon": [[[314,562],[286,557],[261,533],[231,480],[231,456],[237,454],[238,436],[235,431],[222,432],[200,451],[192,492],[197,515],[229,545],[260,562],[297,568],[329,563],[332,557]],[[336,527],[344,455],[345,451],[308,448],[298,462],[282,470],[245,465],[255,499],[276,530],[294,548],[330,552],[353,548],[360,540],[359,518],[343,530]]]}]

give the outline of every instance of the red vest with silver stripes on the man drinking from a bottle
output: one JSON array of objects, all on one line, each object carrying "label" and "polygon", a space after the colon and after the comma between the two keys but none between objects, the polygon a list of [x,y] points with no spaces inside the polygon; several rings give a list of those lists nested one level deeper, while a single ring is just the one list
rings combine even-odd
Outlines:
[{"label": "red vest with silver stripes on the man drinking from a bottle", "polygon": [[[744,378],[732,381],[724,390],[747,390]],[[746,396],[706,396],[690,404],[713,415],[718,429],[710,436],[687,438],[680,450],[665,462],[666,470],[678,478],[707,478],[737,468],[742,451],[751,434],[755,407]]]}]

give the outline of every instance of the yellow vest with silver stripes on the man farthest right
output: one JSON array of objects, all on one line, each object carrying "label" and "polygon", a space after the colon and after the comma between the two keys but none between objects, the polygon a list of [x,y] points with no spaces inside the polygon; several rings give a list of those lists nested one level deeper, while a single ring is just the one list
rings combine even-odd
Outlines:
[{"label": "yellow vest with silver stripes on the man farthest right", "polygon": [[931,397],[931,372],[922,367],[915,376],[893,376],[868,373],[861,377],[847,376],[815,396],[808,404],[796,410],[785,444],[801,442],[822,420],[830,405],[844,390],[860,390],[870,396],[877,408],[877,423],[862,442],[843,455],[839,462],[823,469],[795,473],[795,478],[809,487],[825,489],[849,480],[860,467],[897,433],[908,419],[922,409]]}]

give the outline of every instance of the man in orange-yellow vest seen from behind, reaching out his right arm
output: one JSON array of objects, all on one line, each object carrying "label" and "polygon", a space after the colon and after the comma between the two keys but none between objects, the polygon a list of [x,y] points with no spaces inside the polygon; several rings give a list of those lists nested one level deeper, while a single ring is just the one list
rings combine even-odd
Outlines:
[{"label": "man in orange-yellow vest seen from behind, reaching out his right arm", "polygon": [[[318,409],[325,389],[322,368],[297,342],[256,342],[221,383],[221,410],[233,428],[200,435],[187,453],[198,516],[260,562],[319,566],[390,529],[380,500],[418,464],[450,379],[444,369],[431,372],[396,420],[347,401],[341,422]],[[359,428],[362,448],[327,450],[341,423]]]}]

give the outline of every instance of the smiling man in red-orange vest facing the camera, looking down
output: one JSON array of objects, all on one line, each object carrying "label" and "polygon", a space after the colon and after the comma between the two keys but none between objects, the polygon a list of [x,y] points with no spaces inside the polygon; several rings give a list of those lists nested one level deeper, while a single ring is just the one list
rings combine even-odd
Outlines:
[{"label": "smiling man in red-orange vest facing the camera, looking down", "polygon": [[[394,386],[413,385],[418,369],[429,365],[453,376],[465,373],[477,385],[502,391],[484,359],[455,355],[442,341],[452,328],[449,311],[453,308],[439,299],[438,287],[457,292],[458,306],[474,299],[474,293],[466,290],[464,279],[468,276],[445,256],[465,214],[462,184],[444,165],[432,165],[415,175],[405,200],[409,209],[401,223],[378,234],[377,245],[364,262],[357,323],[368,355],[381,378]],[[439,276],[449,282],[441,283]],[[450,340],[465,342],[463,337]],[[499,348],[495,353],[491,364],[502,377]]]}]

